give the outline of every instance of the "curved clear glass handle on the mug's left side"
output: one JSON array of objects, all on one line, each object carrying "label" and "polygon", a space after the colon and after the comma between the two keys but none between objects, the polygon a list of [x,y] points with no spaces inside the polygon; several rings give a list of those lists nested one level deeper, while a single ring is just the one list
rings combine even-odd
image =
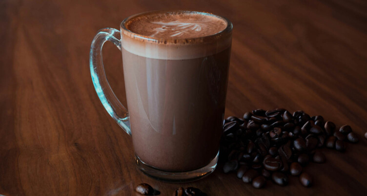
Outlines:
[{"label": "curved clear glass handle on the mug's left side", "polygon": [[121,50],[121,42],[116,37],[120,37],[120,31],[117,29],[104,28],[98,31],[90,46],[90,74],[92,75],[94,88],[104,109],[131,136],[129,113],[112,91],[107,81],[102,61],[102,46],[106,41],[112,42]]}]

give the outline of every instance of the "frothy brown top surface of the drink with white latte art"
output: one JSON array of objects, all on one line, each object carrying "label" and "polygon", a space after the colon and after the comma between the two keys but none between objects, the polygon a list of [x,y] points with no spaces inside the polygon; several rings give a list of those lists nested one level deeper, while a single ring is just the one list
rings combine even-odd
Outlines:
[{"label": "frothy brown top surface of the drink with white latte art", "polygon": [[210,14],[161,13],[142,15],[126,24],[130,31],[154,38],[197,38],[216,34],[227,22]]}]

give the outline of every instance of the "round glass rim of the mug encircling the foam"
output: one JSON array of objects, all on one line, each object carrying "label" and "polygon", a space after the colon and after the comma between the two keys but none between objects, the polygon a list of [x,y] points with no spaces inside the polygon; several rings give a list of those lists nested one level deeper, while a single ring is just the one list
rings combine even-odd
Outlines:
[{"label": "round glass rim of the mug encircling the foam", "polygon": [[[207,36],[202,36],[202,37],[193,37],[193,38],[156,38],[156,37],[151,37],[151,36],[145,36],[139,33],[135,33],[132,32],[131,30],[126,28],[126,22],[130,21],[133,18],[136,18],[138,16],[142,16],[145,14],[154,14],[154,13],[194,13],[194,14],[202,14],[202,15],[207,15],[207,16],[212,16],[212,17],[216,17],[216,18],[220,18],[222,20],[224,20],[225,22],[227,22],[227,26],[212,35],[207,35]],[[210,12],[204,12],[204,11],[194,11],[194,10],[155,10],[155,11],[147,11],[147,12],[142,12],[139,14],[134,14],[132,16],[129,16],[127,18],[125,18],[121,24],[120,24],[120,28],[121,28],[121,34],[123,35],[127,35],[133,39],[137,39],[137,40],[141,40],[141,41],[146,41],[146,42],[150,42],[150,43],[174,43],[174,44],[189,44],[189,43],[203,43],[203,42],[207,42],[210,40],[219,40],[223,37],[226,37],[226,35],[231,34],[232,29],[233,29],[233,24],[232,22],[230,22],[227,18],[220,16],[220,15],[216,15]]]}]

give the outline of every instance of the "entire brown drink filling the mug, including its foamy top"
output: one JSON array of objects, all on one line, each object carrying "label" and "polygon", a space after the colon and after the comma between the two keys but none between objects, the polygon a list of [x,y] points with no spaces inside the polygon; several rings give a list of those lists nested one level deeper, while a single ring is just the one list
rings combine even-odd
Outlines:
[{"label": "entire brown drink filling the mug, including its foamy top", "polygon": [[226,27],[223,18],[180,11],[138,15],[122,26],[133,145],[146,165],[191,171],[218,153],[231,45]]}]

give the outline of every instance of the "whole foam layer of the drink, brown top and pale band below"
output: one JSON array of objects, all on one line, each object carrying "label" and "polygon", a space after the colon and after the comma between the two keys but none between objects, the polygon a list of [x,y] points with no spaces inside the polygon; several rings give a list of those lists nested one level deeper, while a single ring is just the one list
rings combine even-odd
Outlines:
[{"label": "whole foam layer of the drink, brown top and pale band below", "polygon": [[122,47],[139,56],[196,59],[230,47],[232,24],[222,17],[191,11],[155,11],[121,24]]}]

